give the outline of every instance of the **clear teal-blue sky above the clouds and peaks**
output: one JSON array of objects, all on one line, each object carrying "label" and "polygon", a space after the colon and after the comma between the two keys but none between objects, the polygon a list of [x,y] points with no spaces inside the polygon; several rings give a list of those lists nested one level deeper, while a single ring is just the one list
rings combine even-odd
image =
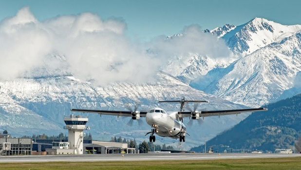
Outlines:
[{"label": "clear teal-blue sky above the clouds and peaks", "polygon": [[14,16],[24,6],[40,21],[82,12],[96,13],[102,19],[122,18],[127,34],[142,40],[173,35],[190,24],[213,29],[255,17],[301,24],[301,0],[0,0],[0,19]]}]

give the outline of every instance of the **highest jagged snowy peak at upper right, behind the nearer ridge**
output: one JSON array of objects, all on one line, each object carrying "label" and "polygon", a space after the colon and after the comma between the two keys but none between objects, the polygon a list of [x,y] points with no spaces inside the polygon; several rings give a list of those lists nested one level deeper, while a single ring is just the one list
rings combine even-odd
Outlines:
[{"label": "highest jagged snowy peak at upper right, behind the nearer ridge", "polygon": [[222,38],[235,54],[245,56],[300,31],[301,25],[282,25],[267,19],[254,18],[235,27]]}]

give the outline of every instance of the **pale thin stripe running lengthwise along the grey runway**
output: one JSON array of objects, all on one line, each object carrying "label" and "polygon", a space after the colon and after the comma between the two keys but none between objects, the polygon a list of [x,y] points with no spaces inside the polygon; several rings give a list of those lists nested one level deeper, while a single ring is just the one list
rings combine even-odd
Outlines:
[{"label": "pale thin stripe running lengthwise along the grey runway", "polygon": [[173,157],[173,158],[115,158],[115,159],[44,159],[44,160],[0,160],[0,162],[74,162],[74,161],[127,161],[127,160],[169,160],[169,159],[208,159],[208,158],[246,158],[246,157],[298,157],[301,155],[253,155],[253,156],[212,156],[212,157]]}]

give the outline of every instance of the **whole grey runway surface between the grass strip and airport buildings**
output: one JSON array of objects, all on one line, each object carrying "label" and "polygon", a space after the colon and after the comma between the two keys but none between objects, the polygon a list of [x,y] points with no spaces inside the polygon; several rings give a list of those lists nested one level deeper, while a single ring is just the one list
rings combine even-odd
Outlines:
[{"label": "whole grey runway surface between the grass strip and airport buildings", "polygon": [[[123,155],[123,156],[122,156]],[[47,156],[0,156],[0,163],[12,162],[82,162],[82,161],[152,161],[152,160],[208,160],[297,157],[301,154],[276,153],[145,153],[145,154],[84,154]]]}]

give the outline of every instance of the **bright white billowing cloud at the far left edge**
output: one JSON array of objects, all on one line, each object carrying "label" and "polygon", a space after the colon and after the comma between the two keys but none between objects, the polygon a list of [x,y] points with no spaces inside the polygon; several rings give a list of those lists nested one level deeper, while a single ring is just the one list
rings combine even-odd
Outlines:
[{"label": "bright white billowing cloud at the far left edge", "polygon": [[13,18],[0,24],[0,79],[13,79],[41,64],[51,51],[49,34],[22,8]]}]

